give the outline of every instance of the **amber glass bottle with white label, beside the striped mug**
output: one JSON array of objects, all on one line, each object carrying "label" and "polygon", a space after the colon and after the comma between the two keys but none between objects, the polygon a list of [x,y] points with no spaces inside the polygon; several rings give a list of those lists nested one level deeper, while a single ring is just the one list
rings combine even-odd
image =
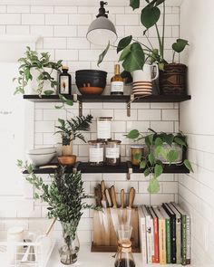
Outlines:
[{"label": "amber glass bottle with white label, beside the striped mug", "polygon": [[114,66],[114,76],[111,79],[111,94],[123,95],[123,79],[119,64]]}]

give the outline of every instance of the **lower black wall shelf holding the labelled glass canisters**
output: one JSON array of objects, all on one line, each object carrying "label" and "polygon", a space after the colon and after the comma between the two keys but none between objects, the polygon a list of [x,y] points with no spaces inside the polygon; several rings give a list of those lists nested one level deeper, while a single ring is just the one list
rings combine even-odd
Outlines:
[{"label": "lower black wall shelf holding the labelled glass canisters", "polygon": [[[131,169],[132,167],[132,169]],[[77,170],[81,171],[83,174],[92,174],[92,173],[142,173],[143,169],[140,169],[137,166],[128,166],[127,162],[122,162],[119,166],[90,166],[88,162],[80,162]],[[53,174],[55,171],[54,168],[36,168],[34,170],[35,174]],[[73,167],[66,167],[66,172],[73,172]],[[24,174],[27,172],[25,171]],[[185,166],[177,165],[164,165],[163,173],[166,174],[185,174],[190,173],[189,169]]]}]

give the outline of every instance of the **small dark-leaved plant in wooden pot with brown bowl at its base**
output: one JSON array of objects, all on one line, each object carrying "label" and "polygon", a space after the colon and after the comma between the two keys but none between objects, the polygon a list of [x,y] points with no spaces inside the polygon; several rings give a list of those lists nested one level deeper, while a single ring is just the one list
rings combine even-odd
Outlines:
[{"label": "small dark-leaved plant in wooden pot with brown bowl at its base", "polygon": [[62,157],[58,157],[62,164],[69,163],[73,165],[75,163],[76,156],[73,155],[73,140],[80,138],[86,143],[83,133],[81,131],[89,131],[90,123],[92,123],[92,115],[76,117],[76,119],[58,119],[60,126],[56,126],[59,129],[55,133],[60,133],[62,136]]}]

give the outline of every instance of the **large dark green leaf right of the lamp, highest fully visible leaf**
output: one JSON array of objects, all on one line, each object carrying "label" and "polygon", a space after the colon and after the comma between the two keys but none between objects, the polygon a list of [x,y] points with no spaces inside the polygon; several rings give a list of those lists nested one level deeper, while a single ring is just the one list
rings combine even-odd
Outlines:
[{"label": "large dark green leaf right of the lamp, highest fully visible leaf", "polygon": [[160,19],[160,9],[157,6],[147,5],[141,11],[141,24],[147,29],[151,28]]}]

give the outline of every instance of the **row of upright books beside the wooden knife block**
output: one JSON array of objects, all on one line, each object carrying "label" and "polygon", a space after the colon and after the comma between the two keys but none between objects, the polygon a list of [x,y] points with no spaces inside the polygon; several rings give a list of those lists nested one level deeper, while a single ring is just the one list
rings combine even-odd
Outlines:
[{"label": "row of upright books beside the wooden knife block", "polygon": [[143,263],[190,264],[190,215],[176,203],[139,207]]}]

